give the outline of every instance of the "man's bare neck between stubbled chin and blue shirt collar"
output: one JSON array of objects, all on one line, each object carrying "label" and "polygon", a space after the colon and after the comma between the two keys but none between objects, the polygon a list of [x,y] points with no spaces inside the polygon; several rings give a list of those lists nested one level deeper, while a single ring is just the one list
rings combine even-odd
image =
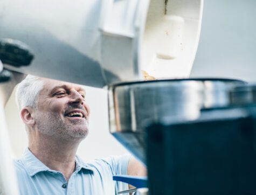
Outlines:
[{"label": "man's bare neck between stubbled chin and blue shirt collar", "polygon": [[38,135],[36,138],[30,136],[30,151],[47,167],[63,173],[68,181],[75,170],[75,154],[80,141],[60,140],[40,133]]}]

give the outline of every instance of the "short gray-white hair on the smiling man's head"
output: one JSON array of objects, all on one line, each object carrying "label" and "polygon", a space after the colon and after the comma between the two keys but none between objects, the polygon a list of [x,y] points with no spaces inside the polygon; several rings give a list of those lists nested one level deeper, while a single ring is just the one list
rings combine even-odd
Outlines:
[{"label": "short gray-white hair on the smiling man's head", "polygon": [[16,102],[19,110],[29,106],[37,108],[38,96],[44,87],[44,81],[38,76],[27,75],[26,78],[19,83],[16,90]]}]

